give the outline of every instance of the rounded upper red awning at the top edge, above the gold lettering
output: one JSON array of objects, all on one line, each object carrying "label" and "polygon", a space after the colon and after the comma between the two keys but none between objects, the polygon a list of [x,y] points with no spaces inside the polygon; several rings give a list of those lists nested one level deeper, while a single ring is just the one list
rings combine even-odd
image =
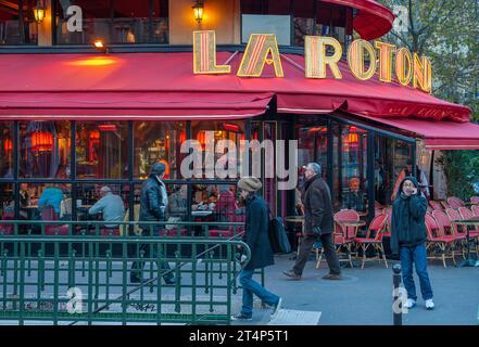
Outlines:
[{"label": "rounded upper red awning at the top edge, above the gold lettering", "polygon": [[389,33],[394,14],[387,7],[374,0],[323,0],[360,10],[353,27],[365,40],[373,40]]}]

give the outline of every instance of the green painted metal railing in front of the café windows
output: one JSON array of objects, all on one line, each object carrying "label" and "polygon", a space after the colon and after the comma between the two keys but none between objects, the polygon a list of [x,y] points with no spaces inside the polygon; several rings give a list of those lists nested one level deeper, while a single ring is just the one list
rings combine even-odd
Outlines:
[{"label": "green painted metal railing in front of the caf\u00e9 windows", "polygon": [[[101,221],[1,223],[0,320],[11,324],[228,324],[239,249],[250,259],[243,223],[175,221],[169,235],[160,232],[168,222],[118,222],[131,233],[148,226],[142,235]],[[232,236],[209,236],[218,228]],[[134,262],[141,283],[130,282]]]}]

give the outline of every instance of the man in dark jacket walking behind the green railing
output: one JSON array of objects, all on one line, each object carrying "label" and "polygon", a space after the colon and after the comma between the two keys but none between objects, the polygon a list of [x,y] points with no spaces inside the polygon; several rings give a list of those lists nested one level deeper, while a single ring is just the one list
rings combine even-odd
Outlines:
[{"label": "man in dark jacket walking behind the green railing", "polygon": [[[166,193],[165,183],[163,183],[162,179],[165,175],[165,165],[162,163],[155,163],[151,170],[150,177],[148,180],[143,182],[141,185],[141,195],[140,195],[140,221],[164,221],[165,220],[165,210],[168,205],[168,196]],[[157,236],[160,233],[161,226],[154,224],[140,224],[143,235],[149,236]],[[141,244],[137,254],[135,254],[136,258],[140,257],[141,252],[144,254],[150,249],[149,244]],[[150,255],[152,258],[156,258],[157,254],[155,252],[156,247],[153,245],[152,247],[153,254]],[[160,260],[160,266],[162,270],[169,270],[169,264],[164,260]],[[144,261],[134,261],[131,266],[130,273],[130,282],[139,283],[142,282],[143,279],[141,277],[142,269],[144,267]],[[163,275],[163,280],[166,284],[174,284],[174,275],[169,271]]]}]

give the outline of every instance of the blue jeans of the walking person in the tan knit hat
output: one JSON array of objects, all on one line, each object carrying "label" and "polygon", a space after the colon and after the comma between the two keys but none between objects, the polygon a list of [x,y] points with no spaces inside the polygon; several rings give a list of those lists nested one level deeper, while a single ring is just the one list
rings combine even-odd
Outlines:
[{"label": "blue jeans of the walking person in the tan knit hat", "polygon": [[253,294],[256,294],[263,303],[274,306],[278,304],[279,296],[266,291],[260,283],[253,280],[254,270],[241,270],[239,281],[243,287],[243,307],[241,313],[247,317],[253,316]]}]

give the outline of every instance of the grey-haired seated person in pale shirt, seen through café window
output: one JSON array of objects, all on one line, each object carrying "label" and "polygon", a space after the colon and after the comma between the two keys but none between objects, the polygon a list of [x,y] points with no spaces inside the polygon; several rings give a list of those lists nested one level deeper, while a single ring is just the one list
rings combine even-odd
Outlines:
[{"label": "grey-haired seated person in pale shirt, seen through caf\u00e9 window", "polygon": [[98,215],[100,213],[102,214],[102,220],[109,222],[104,224],[106,229],[118,228],[117,223],[112,222],[123,221],[125,217],[125,204],[122,197],[113,194],[108,185],[103,185],[100,189],[100,200],[88,210],[89,215]]}]

